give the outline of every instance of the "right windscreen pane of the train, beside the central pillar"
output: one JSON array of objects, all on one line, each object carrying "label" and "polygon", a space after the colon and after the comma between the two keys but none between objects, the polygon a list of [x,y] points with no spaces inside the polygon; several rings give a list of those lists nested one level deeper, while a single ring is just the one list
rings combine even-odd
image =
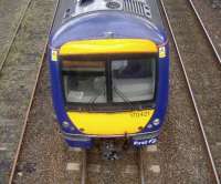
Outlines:
[{"label": "right windscreen pane of the train, beside the central pillar", "polygon": [[149,101],[155,95],[156,61],[116,60],[112,62],[113,102]]}]

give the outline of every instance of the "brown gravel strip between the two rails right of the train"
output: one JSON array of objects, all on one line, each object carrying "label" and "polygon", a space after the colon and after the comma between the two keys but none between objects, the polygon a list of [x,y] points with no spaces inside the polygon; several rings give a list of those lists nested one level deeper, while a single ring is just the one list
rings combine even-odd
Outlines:
[{"label": "brown gravel strip between the two rails right of the train", "polygon": [[[164,0],[221,176],[221,70],[198,19],[186,0]],[[209,16],[209,14],[207,14]],[[214,24],[219,19],[214,19]],[[217,24],[218,25],[218,24]]]}]

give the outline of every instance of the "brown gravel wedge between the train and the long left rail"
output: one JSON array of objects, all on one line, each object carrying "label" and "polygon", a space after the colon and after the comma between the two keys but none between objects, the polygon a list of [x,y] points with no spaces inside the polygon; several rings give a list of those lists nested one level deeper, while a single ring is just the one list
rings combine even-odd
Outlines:
[{"label": "brown gravel wedge between the train and the long left rail", "polygon": [[[69,184],[80,181],[78,174],[74,175],[72,171],[66,171],[66,166],[67,163],[78,163],[81,152],[69,151],[65,145],[54,119],[50,92],[46,61],[44,61],[14,183]],[[33,172],[24,168],[29,163],[34,164]],[[22,173],[22,176],[19,173]]]}]

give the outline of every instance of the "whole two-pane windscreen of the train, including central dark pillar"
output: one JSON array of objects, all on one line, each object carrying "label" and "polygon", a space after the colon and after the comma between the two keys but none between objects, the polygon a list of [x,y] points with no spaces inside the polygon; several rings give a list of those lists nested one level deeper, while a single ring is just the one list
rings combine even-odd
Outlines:
[{"label": "whole two-pane windscreen of the train, including central dark pillar", "polygon": [[115,104],[152,101],[156,57],[63,61],[62,75],[67,103]]}]

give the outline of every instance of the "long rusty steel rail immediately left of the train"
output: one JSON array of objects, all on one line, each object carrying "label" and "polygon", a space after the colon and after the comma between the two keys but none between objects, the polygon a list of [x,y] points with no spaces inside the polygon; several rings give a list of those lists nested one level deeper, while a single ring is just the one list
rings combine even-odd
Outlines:
[{"label": "long rusty steel rail immediately left of the train", "polygon": [[[54,14],[53,14],[53,21],[52,21],[51,27],[49,29],[49,34],[50,34],[51,29],[52,29],[53,23],[54,23],[54,18],[55,18],[55,14],[56,14],[56,10],[59,8],[59,3],[60,3],[60,0],[57,0],[56,6],[55,6],[55,10],[54,10]],[[25,130],[27,130],[27,125],[28,125],[29,114],[30,114],[31,108],[33,105],[33,100],[34,100],[34,96],[35,96],[38,82],[39,82],[40,74],[41,74],[42,67],[43,67],[43,62],[44,62],[45,55],[46,55],[48,42],[49,42],[49,37],[48,37],[46,42],[44,44],[44,51],[43,51],[43,54],[42,54],[41,60],[40,60],[40,65],[39,65],[39,69],[38,69],[35,82],[34,82],[34,88],[32,90],[31,99],[30,99],[29,106],[28,106],[28,110],[27,110],[27,113],[25,113],[24,123],[23,123],[21,135],[20,135],[20,139],[19,139],[19,145],[17,147],[17,152],[15,152],[15,155],[14,155],[14,159],[13,159],[12,168],[11,168],[11,172],[10,172],[9,184],[13,183],[17,163],[18,163],[18,160],[19,160],[21,146],[22,146],[22,143],[23,143],[23,139],[24,139],[24,134],[25,134]]]}]

